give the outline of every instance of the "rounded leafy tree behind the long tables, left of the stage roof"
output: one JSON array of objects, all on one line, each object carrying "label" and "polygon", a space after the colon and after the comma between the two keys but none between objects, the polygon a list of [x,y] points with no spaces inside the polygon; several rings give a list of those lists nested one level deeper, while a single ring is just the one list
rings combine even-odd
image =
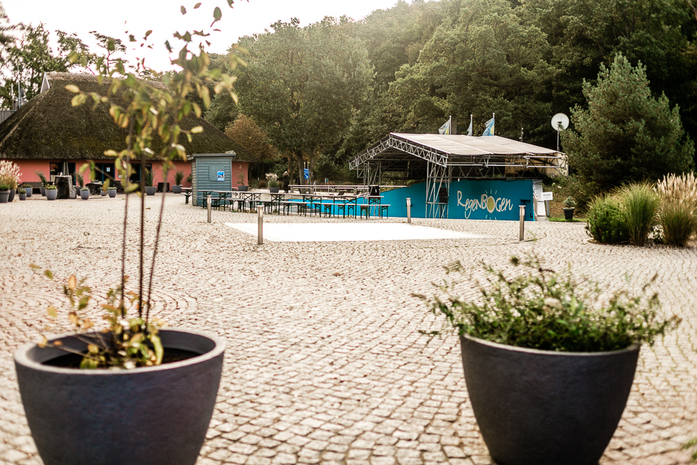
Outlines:
[{"label": "rounded leafy tree behind the long tables, left of the stage roof", "polygon": [[307,160],[312,176],[316,156],[350,127],[373,72],[365,45],[333,18],[299,24],[296,18],[276,22],[273,31],[240,40],[249,66],[240,71],[236,89],[241,111],[289,158],[291,171],[291,162],[302,172]]}]

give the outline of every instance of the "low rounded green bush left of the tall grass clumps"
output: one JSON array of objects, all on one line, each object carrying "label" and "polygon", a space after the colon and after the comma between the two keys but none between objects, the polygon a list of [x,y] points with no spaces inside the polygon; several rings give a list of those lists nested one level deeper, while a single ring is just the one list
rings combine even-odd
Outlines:
[{"label": "low rounded green bush left of the tall grass clumps", "polygon": [[624,223],[622,207],[617,197],[595,197],[588,206],[588,223],[585,230],[599,243],[617,244],[629,241],[629,231]]}]

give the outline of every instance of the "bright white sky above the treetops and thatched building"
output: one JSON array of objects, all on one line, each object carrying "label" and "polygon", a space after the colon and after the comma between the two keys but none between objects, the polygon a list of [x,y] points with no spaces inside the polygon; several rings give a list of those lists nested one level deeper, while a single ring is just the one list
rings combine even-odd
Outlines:
[{"label": "bright white sky above the treetops and thatched building", "polygon": [[[201,7],[194,10],[197,1]],[[213,8],[220,6],[222,20],[215,26],[220,32],[213,32],[208,38],[212,43],[209,52],[224,53],[240,36],[263,32],[277,20],[289,22],[297,17],[305,26],[321,20],[325,16],[339,18],[347,15],[361,20],[377,9],[391,8],[396,0],[235,0],[234,8],[227,6],[225,0],[0,0],[5,6],[10,22],[38,24],[43,22],[49,31],[61,29],[67,33],[77,33],[92,49],[90,31],[98,31],[107,36],[121,38],[128,43],[125,31],[137,38],[144,36],[149,29],[153,34],[148,41],[153,50],[140,49],[136,56],[146,56],[146,65],[156,70],[169,68],[164,41],[170,40],[174,31],[193,31],[207,29],[213,22]],[[187,14],[181,14],[181,6]],[[95,51],[93,49],[93,51]],[[128,52],[131,56],[133,52]],[[127,56],[127,57],[128,57]]]}]

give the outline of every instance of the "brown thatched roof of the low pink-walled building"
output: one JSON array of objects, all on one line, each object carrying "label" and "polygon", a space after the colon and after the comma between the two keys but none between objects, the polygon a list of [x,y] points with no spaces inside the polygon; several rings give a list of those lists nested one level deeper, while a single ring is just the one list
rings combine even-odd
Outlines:
[{"label": "brown thatched roof of the low pink-walled building", "polygon": [[[66,90],[68,84],[101,95],[106,95],[108,86],[106,83],[100,86],[93,75],[47,73],[44,91],[0,124],[0,158],[107,160],[105,150],[121,151],[125,148],[128,130],[114,124],[108,106],[101,105],[93,110],[91,103],[87,102],[72,107],[70,100],[74,94]],[[157,84],[164,88],[164,84]],[[246,148],[204,119],[192,114],[181,125],[184,129],[197,125],[204,128],[204,132],[192,135],[192,142],[180,137],[187,153],[235,151],[236,161],[258,161]],[[157,136],[153,138],[152,148],[155,153],[162,148],[162,140]]]}]

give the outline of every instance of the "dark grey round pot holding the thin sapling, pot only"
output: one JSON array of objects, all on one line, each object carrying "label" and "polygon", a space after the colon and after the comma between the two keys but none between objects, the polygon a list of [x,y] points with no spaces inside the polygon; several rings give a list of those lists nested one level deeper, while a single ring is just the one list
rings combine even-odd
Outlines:
[{"label": "dark grey round pot holding the thin sapling, pot only", "polygon": [[[64,355],[25,344],[15,352],[26,419],[45,465],[194,465],[220,384],[224,342],[162,330],[167,349],[199,356],[130,370],[43,365]],[[58,337],[79,351],[86,344]]]}]

